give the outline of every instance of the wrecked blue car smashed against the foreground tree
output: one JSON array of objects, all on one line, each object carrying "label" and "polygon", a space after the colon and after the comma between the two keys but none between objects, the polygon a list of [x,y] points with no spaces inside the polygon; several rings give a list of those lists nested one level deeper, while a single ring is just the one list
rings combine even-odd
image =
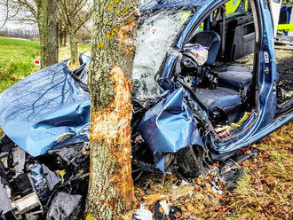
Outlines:
[{"label": "wrecked blue car smashed against the foreground tree", "polygon": [[[134,173],[196,177],[292,120],[292,76],[277,72],[267,1],[151,0],[140,12]],[[235,64],[250,53],[252,67]],[[2,218],[78,215],[89,173],[88,56],[75,71],[66,60],[0,95]]]}]

